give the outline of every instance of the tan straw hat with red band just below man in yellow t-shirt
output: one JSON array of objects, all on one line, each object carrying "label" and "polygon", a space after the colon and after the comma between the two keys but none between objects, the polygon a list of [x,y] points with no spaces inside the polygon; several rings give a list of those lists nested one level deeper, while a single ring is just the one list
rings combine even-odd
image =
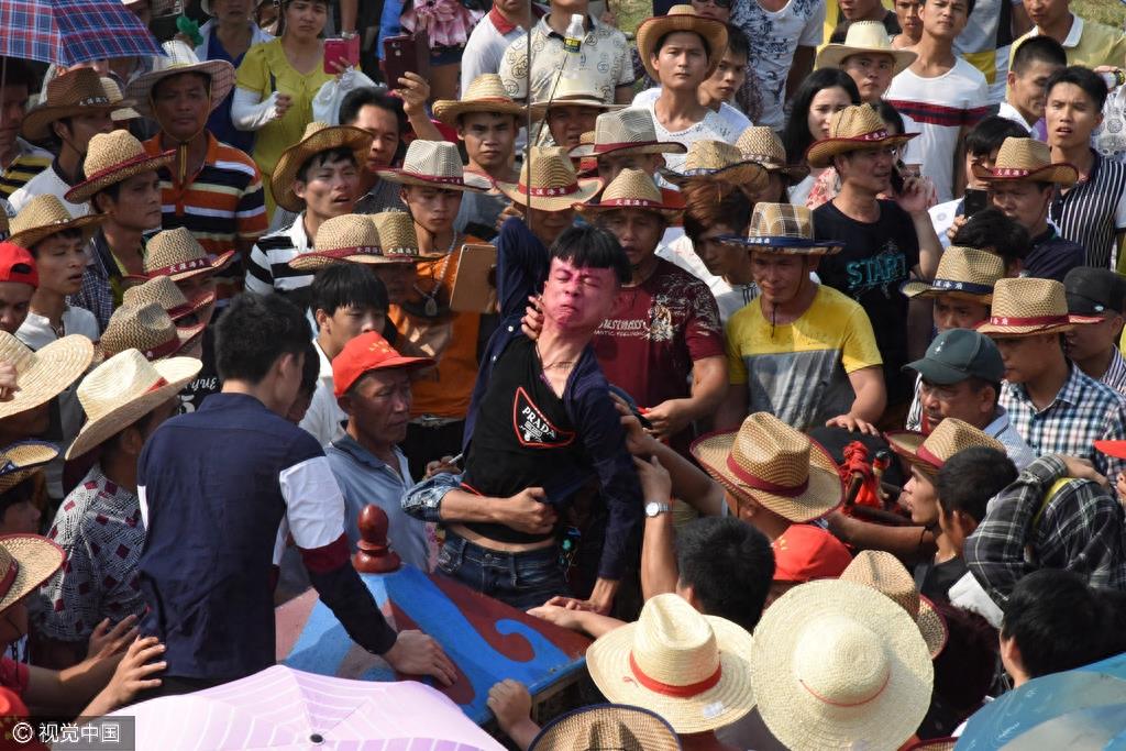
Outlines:
[{"label": "tan straw hat with red band just below man in yellow t-shirt", "polygon": [[794,522],[823,517],[844,500],[829,452],[767,412],[748,415],[739,430],[704,436],[690,450],[733,494]]}]

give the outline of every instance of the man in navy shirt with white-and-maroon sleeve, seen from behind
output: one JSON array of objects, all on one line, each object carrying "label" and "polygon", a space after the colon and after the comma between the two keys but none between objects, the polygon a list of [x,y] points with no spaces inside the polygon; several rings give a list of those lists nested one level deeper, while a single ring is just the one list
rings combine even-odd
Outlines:
[{"label": "man in navy shirt with white-and-maroon sleeve, seen from behind", "polygon": [[[320,445],[285,419],[301,385],[309,323],[277,295],[242,295],[217,325],[223,390],[169,420],[141,455],[146,635],[168,663],[160,694],[274,664],[274,583],[289,535],[348,634],[406,674],[455,677],[441,647],[395,632],[349,560],[345,503]],[[145,697],[151,698],[151,697]]]}]

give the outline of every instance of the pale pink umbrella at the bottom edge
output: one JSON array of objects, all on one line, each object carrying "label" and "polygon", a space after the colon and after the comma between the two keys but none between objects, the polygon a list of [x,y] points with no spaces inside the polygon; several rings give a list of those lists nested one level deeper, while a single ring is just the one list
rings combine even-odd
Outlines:
[{"label": "pale pink umbrella at the bottom edge", "polygon": [[136,717],[135,748],[144,751],[504,748],[456,704],[422,683],[346,680],[285,665],[195,694],[135,704],[114,715]]}]

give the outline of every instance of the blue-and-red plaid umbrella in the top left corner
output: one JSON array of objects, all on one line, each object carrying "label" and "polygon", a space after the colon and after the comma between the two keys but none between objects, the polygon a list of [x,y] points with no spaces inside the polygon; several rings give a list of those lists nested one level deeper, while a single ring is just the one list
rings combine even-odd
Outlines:
[{"label": "blue-and-red plaid umbrella in the top left corner", "polygon": [[0,0],[0,56],[77,65],[164,54],[120,0]]}]

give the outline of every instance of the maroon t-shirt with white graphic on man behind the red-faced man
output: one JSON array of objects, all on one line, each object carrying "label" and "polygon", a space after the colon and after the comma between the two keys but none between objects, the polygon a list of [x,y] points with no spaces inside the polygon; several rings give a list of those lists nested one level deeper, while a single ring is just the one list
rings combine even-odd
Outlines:
[{"label": "maroon t-shirt with white graphic on man behind the red-faced man", "polygon": [[[595,334],[595,354],[606,379],[642,408],[690,396],[692,361],[724,355],[723,324],[712,290],[661,259],[647,279],[618,295],[617,314]],[[686,439],[677,438],[674,445]]]}]

